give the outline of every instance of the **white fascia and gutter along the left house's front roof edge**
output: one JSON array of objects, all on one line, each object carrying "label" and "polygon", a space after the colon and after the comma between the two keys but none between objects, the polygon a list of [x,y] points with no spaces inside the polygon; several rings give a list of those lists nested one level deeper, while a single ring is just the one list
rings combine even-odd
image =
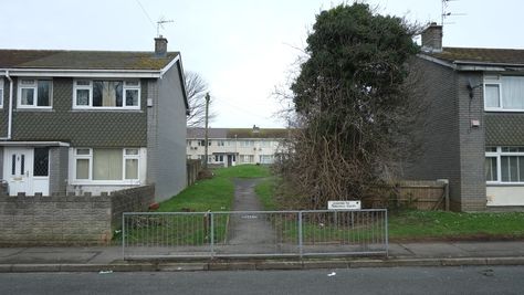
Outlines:
[{"label": "white fascia and gutter along the left house's front roof edge", "polygon": [[159,78],[160,71],[153,70],[66,70],[66,69],[0,69],[11,76],[45,77],[129,77]]}]

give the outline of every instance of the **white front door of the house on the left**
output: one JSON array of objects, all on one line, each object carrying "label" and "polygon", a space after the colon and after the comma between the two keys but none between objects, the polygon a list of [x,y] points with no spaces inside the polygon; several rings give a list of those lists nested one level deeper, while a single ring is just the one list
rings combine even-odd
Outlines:
[{"label": "white front door of the house on the left", "polygon": [[6,147],[3,155],[3,179],[9,183],[9,194],[33,196],[33,148]]}]

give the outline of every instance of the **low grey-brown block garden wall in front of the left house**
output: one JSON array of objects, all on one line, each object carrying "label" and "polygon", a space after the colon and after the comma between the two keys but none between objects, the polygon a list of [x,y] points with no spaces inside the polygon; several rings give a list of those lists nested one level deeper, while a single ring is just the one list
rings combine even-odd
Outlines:
[{"label": "low grey-brown block garden wall in front of the left house", "polygon": [[107,244],[122,212],[147,210],[154,198],[154,186],[102,196],[0,196],[0,245]]}]

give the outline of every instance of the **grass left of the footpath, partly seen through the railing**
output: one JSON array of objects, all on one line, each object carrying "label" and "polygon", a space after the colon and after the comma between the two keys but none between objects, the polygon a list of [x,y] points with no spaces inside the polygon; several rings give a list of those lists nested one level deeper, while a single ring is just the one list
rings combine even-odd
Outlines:
[{"label": "grass left of the footpath, partly seen through the railing", "polygon": [[[213,175],[211,179],[199,180],[179,194],[160,202],[157,212],[231,211],[234,197],[232,179],[269,177],[270,169],[265,166],[243,165],[214,169]],[[203,245],[209,243],[210,226],[205,214],[153,215],[136,217],[136,219],[138,221],[128,221],[129,225],[126,230],[126,238],[130,244]],[[214,242],[220,243],[226,239],[228,222],[227,214],[216,217]]]}]

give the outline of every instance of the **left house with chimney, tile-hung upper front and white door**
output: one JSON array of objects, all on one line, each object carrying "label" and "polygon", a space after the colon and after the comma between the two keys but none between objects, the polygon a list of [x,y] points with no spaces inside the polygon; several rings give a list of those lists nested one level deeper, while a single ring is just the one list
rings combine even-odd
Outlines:
[{"label": "left house with chimney, tile-hung upper front and white door", "polygon": [[186,183],[180,53],[0,50],[0,178],[10,196]]}]

